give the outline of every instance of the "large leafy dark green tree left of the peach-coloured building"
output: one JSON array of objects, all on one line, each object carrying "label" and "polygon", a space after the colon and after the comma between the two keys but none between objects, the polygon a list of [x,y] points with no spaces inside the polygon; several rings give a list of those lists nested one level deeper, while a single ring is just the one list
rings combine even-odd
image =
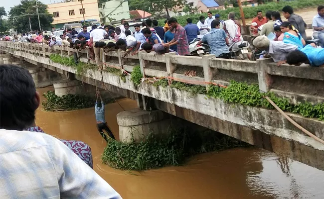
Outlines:
[{"label": "large leafy dark green tree left of the peach-coloured building", "polygon": [[[30,24],[33,30],[39,29],[38,18],[36,14],[36,0],[21,0],[19,5],[15,5],[9,12],[9,20],[14,24],[18,32],[29,31]],[[53,22],[53,15],[47,11],[47,5],[37,0],[38,13],[41,29],[50,29]],[[29,17],[28,17],[29,16]]]}]

